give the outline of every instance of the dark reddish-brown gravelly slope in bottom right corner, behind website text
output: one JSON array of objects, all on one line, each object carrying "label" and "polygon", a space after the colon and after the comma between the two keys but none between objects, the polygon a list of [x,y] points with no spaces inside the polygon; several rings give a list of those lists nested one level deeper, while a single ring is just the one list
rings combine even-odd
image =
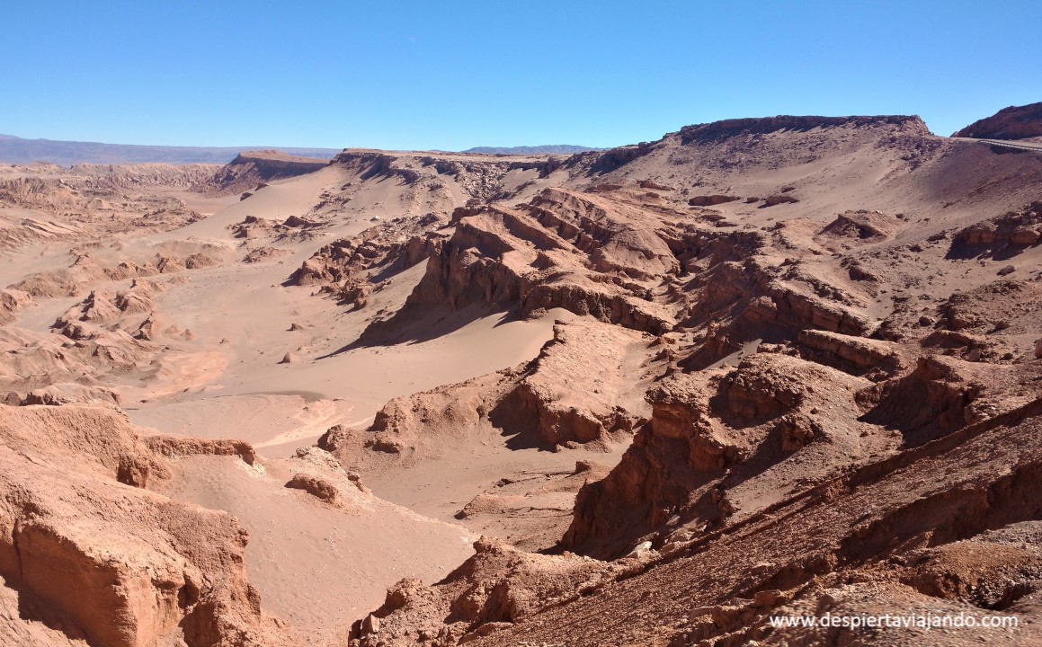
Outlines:
[{"label": "dark reddish-brown gravelly slope in bottom right corner, behind website text", "polygon": [[[474,644],[539,644],[567,625],[569,644],[581,647],[814,645],[838,632],[776,628],[769,618],[896,607],[979,619],[996,606],[1032,616],[1042,554],[1039,505],[1029,494],[1039,477],[1040,413],[1034,401],[957,437],[821,479],[763,514],[663,546],[624,579],[603,578],[599,595],[491,627]],[[1037,628],[1023,620],[1019,627],[1002,640],[1038,640]],[[959,632],[967,640],[953,643],[926,629],[882,627],[872,641],[899,645],[914,636],[926,645],[968,645],[994,640],[992,631],[968,628]]]}]

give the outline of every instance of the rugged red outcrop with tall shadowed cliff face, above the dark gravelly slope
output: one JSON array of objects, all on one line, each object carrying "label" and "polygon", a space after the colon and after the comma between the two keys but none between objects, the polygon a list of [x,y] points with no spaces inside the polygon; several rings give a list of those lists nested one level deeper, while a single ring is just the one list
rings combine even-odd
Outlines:
[{"label": "rugged red outcrop with tall shadowed cliff face, above the dark gravelly slope", "polygon": [[[758,353],[737,369],[674,373],[650,390],[650,422],[638,431],[606,478],[584,488],[562,547],[599,556],[625,554],[675,516],[674,524],[713,527],[733,514],[739,498],[727,490],[767,461],[793,451],[838,458],[861,443],[854,394],[867,380],[787,355]],[[824,412],[832,412],[832,422]],[[817,448],[817,449],[815,449]],[[760,467],[746,465],[756,456]],[[802,476],[787,469],[783,482]],[[736,482],[737,481],[737,482]],[[760,503],[762,504],[762,502]],[[751,511],[746,511],[746,514]],[[665,527],[668,534],[677,528]],[[652,536],[665,543],[663,536]]]}]

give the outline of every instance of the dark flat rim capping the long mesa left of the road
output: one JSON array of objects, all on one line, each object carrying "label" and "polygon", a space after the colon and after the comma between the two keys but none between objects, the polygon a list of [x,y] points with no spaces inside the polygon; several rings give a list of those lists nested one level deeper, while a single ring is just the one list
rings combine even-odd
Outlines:
[{"label": "dark flat rim capping the long mesa left of the road", "polygon": [[885,115],[878,117],[762,117],[747,119],[725,119],[709,124],[695,124],[680,128],[683,144],[693,142],[714,142],[740,134],[766,134],[783,130],[804,132],[815,128],[836,128],[851,126],[855,128],[886,127],[904,131],[908,134],[928,135],[929,129],[918,116]]}]

